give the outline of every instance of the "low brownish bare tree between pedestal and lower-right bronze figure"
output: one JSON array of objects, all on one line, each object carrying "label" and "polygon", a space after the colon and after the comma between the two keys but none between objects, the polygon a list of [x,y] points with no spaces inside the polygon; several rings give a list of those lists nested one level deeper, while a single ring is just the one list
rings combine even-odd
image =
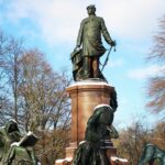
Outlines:
[{"label": "low brownish bare tree between pedestal and lower-right bronze figure", "polygon": [[117,143],[120,157],[128,158],[130,164],[138,164],[142,148],[148,141],[147,133],[147,128],[140,121],[132,123],[127,130],[122,130]]}]

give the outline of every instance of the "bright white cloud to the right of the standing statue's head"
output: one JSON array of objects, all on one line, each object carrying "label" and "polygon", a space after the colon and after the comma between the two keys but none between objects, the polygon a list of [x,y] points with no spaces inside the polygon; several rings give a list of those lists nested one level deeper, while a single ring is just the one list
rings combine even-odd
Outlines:
[{"label": "bright white cloud to the right of the standing statue's head", "polygon": [[[105,2],[108,3],[108,0]],[[164,0],[111,1],[102,13],[108,19],[108,25],[119,35],[143,40],[157,28],[157,19],[164,14]],[[109,16],[107,16],[108,11],[110,11]]]}]

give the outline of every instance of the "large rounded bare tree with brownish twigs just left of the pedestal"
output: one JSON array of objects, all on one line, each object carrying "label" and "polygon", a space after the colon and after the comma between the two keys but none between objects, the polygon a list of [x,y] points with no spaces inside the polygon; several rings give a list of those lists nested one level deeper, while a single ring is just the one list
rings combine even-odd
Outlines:
[{"label": "large rounded bare tree with brownish twigs just left of the pedestal", "polygon": [[26,129],[65,128],[70,114],[65,92],[70,82],[67,75],[53,72],[37,50],[23,55],[21,70],[22,82],[19,90],[22,108],[29,113],[25,117],[29,121]]}]

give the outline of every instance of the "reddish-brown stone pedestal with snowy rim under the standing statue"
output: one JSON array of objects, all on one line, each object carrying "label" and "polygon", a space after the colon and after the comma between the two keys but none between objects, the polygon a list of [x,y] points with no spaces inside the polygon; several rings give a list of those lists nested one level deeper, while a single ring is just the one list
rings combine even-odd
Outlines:
[{"label": "reddish-brown stone pedestal with snowy rim under the standing statue", "polygon": [[[79,142],[85,139],[87,121],[92,114],[94,108],[100,103],[109,105],[114,88],[105,81],[85,80],[75,82],[66,90],[72,99],[72,143],[66,148],[66,158],[56,162],[56,165],[72,164]],[[117,155],[113,145],[107,150],[107,154],[109,156]]]}]

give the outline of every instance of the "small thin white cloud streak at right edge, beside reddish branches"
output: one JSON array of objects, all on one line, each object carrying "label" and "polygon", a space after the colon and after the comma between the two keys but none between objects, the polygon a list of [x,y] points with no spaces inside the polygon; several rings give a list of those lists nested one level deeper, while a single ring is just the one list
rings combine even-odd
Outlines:
[{"label": "small thin white cloud streak at right edge, beside reddish branches", "polygon": [[152,76],[158,76],[162,75],[165,72],[165,65],[164,66],[158,66],[158,65],[153,65],[150,67],[145,68],[138,68],[128,72],[128,76],[133,79],[145,79]]}]

